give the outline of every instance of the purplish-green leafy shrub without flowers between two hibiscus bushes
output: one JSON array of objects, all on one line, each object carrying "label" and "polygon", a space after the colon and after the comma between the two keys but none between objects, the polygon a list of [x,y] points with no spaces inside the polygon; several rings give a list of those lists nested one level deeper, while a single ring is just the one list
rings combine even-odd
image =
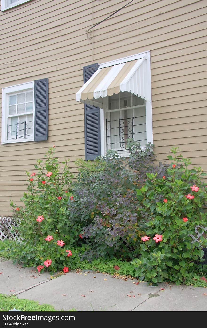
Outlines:
[{"label": "purplish-green leafy shrub without flowers between two hibiscus bushes", "polygon": [[[165,165],[153,164],[151,144],[143,151],[129,142],[129,161],[108,150],[95,166],[86,162],[72,186],[76,201],[69,202],[71,223],[81,224],[87,250],[83,258],[117,256],[124,259],[140,254],[136,188],[144,184],[149,170],[164,174]],[[95,169],[94,169],[95,168]]]}]

